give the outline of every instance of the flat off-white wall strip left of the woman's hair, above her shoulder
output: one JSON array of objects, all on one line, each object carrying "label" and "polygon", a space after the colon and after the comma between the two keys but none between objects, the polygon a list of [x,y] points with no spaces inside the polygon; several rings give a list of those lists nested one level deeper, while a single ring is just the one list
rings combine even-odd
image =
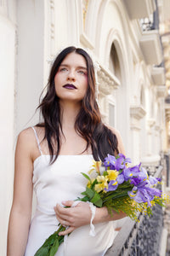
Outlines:
[{"label": "flat off-white wall strip left of the woman's hair, above her shoulder", "polygon": [[[44,1],[17,1],[17,83],[15,135],[35,124],[44,84]],[[33,116],[34,115],[34,116]]]}]

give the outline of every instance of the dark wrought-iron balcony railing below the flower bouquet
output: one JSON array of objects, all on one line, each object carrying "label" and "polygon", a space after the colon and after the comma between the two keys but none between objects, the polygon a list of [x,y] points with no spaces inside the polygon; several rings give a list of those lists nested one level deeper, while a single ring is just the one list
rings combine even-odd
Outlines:
[{"label": "dark wrought-iron balcony railing below the flower bouquet", "polygon": [[[154,176],[161,177],[162,169],[162,166],[155,168]],[[160,187],[161,184],[158,186]],[[127,218],[105,256],[158,256],[161,247],[163,212],[158,205],[152,208],[152,212],[150,218],[144,213],[139,213],[139,222]]]}]

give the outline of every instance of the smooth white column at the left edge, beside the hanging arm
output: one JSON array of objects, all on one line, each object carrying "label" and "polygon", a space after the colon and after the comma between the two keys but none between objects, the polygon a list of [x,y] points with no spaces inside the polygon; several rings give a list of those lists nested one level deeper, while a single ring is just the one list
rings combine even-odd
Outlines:
[{"label": "smooth white column at the left edge, beside the hanging arm", "polygon": [[0,255],[5,255],[14,176],[14,43],[15,28],[0,15]]}]

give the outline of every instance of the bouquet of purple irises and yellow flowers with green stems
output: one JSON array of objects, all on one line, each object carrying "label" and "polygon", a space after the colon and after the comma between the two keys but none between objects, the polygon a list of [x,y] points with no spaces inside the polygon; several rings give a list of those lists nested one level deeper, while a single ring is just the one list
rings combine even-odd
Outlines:
[{"label": "bouquet of purple irises and yellow flowers with green stems", "polygon": [[[107,207],[111,215],[114,211],[125,212],[135,221],[138,221],[138,212],[150,216],[152,206],[159,204],[163,207],[166,196],[156,189],[156,184],[160,183],[161,179],[148,177],[141,164],[129,167],[129,163],[131,160],[123,154],[116,157],[108,154],[103,163],[94,161],[89,176],[82,173],[88,179],[88,184],[82,192],[83,197],[78,197],[75,201],[89,201],[96,207]],[[64,241],[64,236],[59,236],[59,232],[63,230],[65,227],[59,224],[59,229],[48,237],[35,256],[54,256]]]}]

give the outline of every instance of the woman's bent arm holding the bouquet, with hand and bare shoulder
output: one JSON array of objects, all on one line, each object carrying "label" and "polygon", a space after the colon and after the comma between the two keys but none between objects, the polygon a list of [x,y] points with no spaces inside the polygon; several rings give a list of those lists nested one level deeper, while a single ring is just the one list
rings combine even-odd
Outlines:
[{"label": "woman's bent arm holding the bouquet, with hand and bare shoulder", "polygon": [[[122,137],[120,135],[120,132],[113,127],[109,127],[109,129],[117,137],[119,153],[125,154],[125,149],[123,147]],[[71,207],[72,203],[73,201],[62,202],[62,204],[65,207]],[[61,236],[65,236],[66,234],[71,233],[73,230],[76,230],[78,227],[90,223],[92,213],[89,209],[88,203],[86,202],[80,202],[77,205],[77,207],[72,207],[72,208],[64,208],[57,205],[56,207],[54,207],[54,210],[59,222],[61,224],[70,226],[68,230],[60,232],[59,235]],[[101,208],[96,207],[93,223],[98,224],[105,221],[121,219],[127,216],[126,213],[124,212],[119,212],[119,213],[115,211],[112,211],[112,212],[113,212],[113,215],[111,216],[111,214],[108,212],[106,207],[101,207]]]}]

